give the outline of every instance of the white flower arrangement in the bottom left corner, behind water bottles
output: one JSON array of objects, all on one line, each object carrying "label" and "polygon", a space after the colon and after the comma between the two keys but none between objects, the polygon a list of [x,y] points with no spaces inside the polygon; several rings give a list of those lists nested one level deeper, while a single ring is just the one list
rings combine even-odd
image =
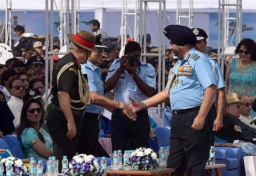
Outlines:
[{"label": "white flower arrangement in the bottom left corner, behind water bottles", "polygon": [[19,158],[14,158],[12,156],[1,159],[1,163],[3,163],[4,166],[4,175],[6,175],[6,167],[8,163],[12,164],[13,167],[13,175],[22,175],[27,176],[29,175],[29,172],[27,170],[27,167],[23,164],[22,160]]}]

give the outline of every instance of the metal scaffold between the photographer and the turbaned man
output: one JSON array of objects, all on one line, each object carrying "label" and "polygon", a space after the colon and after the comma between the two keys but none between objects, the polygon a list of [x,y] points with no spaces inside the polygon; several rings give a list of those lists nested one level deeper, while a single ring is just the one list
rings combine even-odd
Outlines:
[{"label": "metal scaffold between the photographer and the turbaned man", "polygon": [[[146,52],[146,34],[147,34],[147,9],[148,3],[159,3],[159,21],[158,21],[158,53],[147,53]],[[142,10],[143,7],[143,10]],[[140,15],[139,15],[139,40],[142,47],[142,60],[146,62],[147,56],[158,57],[158,93],[165,89],[165,69],[161,71],[161,67],[165,68],[165,37],[163,36],[163,28],[166,26],[166,1],[165,0],[140,0]],[[161,86],[162,85],[162,86]],[[161,126],[161,111],[162,111],[162,124],[164,125],[164,103],[158,105],[157,108],[149,108],[158,110],[158,126]]]}]

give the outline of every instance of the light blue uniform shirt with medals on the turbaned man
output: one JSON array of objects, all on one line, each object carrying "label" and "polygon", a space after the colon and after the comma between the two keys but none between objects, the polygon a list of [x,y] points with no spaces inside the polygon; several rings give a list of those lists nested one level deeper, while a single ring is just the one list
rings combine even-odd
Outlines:
[{"label": "light blue uniform shirt with medals on the turbaned man", "polygon": [[[189,76],[178,76],[177,86],[171,85],[170,102],[172,110],[182,110],[194,108],[202,105],[204,93],[207,87],[217,85],[212,71],[210,60],[193,47],[186,55],[185,59],[179,59],[172,69],[172,73],[190,70]],[[167,86],[165,87],[167,90]]]}]

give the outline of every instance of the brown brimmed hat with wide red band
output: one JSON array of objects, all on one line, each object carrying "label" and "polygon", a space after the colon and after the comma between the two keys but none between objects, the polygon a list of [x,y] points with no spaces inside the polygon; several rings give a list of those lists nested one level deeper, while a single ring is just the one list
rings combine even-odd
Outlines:
[{"label": "brown brimmed hat with wide red band", "polygon": [[74,44],[82,47],[83,49],[89,50],[91,52],[98,52],[97,47],[95,46],[96,37],[91,33],[81,30],[76,35],[68,34],[68,38]]}]

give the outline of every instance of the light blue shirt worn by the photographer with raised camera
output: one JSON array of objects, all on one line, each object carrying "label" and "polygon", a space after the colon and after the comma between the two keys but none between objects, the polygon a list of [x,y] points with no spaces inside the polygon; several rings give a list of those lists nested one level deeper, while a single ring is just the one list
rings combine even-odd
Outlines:
[{"label": "light blue shirt worn by the photographer with raised camera", "polygon": [[[109,68],[108,76],[106,81],[113,76],[116,71],[119,69],[121,65],[121,60],[116,59]],[[155,69],[154,67],[145,62],[141,62],[141,65],[137,65],[136,74],[141,78],[143,82],[145,82],[150,87],[153,87],[154,90],[156,89],[156,76],[155,76]],[[118,82],[115,87],[115,100],[124,102],[124,103],[131,103],[129,97],[133,98],[137,101],[143,101],[148,99],[148,97],[142,93],[139,89],[133,78],[127,71],[125,70],[122,75],[119,77]]]}]

